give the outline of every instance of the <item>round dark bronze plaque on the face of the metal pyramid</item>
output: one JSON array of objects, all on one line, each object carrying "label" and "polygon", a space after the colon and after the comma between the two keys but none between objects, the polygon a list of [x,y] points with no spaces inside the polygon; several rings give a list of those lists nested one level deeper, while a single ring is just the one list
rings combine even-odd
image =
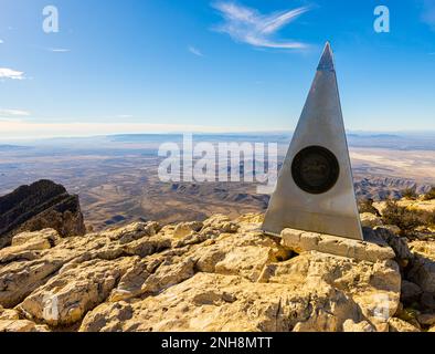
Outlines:
[{"label": "round dark bronze plaque on the face of the metal pyramid", "polygon": [[293,179],[304,191],[321,195],[330,190],[340,176],[336,155],[321,146],[310,146],[299,152],[291,165]]}]

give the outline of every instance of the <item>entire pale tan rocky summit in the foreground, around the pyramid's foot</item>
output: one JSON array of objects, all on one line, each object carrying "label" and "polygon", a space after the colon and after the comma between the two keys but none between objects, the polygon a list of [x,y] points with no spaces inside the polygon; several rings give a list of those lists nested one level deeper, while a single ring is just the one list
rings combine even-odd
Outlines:
[{"label": "entire pale tan rocky summit in the foreground, around the pyramid's foot", "polygon": [[0,331],[435,330],[432,241],[382,227],[365,229],[376,242],[353,246],[294,230],[275,238],[262,221],[15,235],[0,250]]}]

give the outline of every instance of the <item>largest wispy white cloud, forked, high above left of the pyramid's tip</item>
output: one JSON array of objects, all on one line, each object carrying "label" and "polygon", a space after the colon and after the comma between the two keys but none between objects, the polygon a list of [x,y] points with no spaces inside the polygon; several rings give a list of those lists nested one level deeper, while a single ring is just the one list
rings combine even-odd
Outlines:
[{"label": "largest wispy white cloud, forked, high above left of the pyramid's tip", "polygon": [[309,7],[262,14],[256,9],[235,2],[219,1],[212,6],[220,11],[224,19],[224,23],[216,27],[215,30],[230,34],[234,41],[274,49],[305,49],[308,46],[306,43],[297,41],[275,40],[274,34],[309,11]]}]

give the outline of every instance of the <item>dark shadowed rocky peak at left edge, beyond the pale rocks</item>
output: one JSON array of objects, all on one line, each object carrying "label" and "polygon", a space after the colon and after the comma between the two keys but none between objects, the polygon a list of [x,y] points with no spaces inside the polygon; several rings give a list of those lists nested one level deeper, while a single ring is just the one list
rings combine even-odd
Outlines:
[{"label": "dark shadowed rocky peak at left edge, beyond the pale rocks", "polygon": [[55,229],[62,237],[86,232],[78,197],[51,180],[21,186],[0,197],[0,249],[23,231]]}]

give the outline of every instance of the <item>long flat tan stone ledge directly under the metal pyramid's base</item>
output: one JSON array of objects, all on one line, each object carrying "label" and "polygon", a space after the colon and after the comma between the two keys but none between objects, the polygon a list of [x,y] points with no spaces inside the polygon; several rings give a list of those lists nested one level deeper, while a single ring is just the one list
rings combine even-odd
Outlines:
[{"label": "long flat tan stone ledge directly under the metal pyramid's base", "polygon": [[294,229],[284,229],[280,237],[282,244],[296,253],[317,251],[372,263],[395,258],[393,249],[381,239],[359,241]]}]

